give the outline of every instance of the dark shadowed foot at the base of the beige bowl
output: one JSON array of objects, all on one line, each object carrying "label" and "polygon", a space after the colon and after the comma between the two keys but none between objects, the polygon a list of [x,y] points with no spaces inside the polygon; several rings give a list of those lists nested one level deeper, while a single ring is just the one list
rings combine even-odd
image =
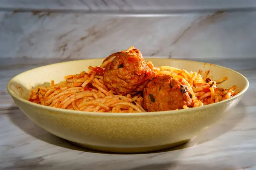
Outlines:
[{"label": "dark shadowed foot at the base of the beige bowl", "polygon": [[179,146],[181,144],[184,144],[186,142],[189,142],[190,139],[186,139],[180,142],[172,143],[172,144],[164,144],[164,145],[158,145],[158,146],[151,146],[151,147],[102,147],[102,146],[96,146],[96,145],[90,145],[90,144],[81,144],[69,141],[79,147],[84,147],[86,149],[90,150],[96,150],[101,152],[108,152],[108,153],[145,153],[145,152],[154,152],[159,150],[166,150],[172,147]]}]

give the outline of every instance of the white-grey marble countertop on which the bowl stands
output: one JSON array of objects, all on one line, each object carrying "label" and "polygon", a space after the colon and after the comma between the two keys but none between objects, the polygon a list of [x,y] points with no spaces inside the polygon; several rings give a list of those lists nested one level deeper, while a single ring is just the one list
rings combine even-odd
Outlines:
[{"label": "white-grey marble countertop on which the bowl stands", "polygon": [[200,59],[243,74],[250,82],[248,91],[227,117],[190,142],[146,154],[76,147],[38,127],[20,111],[6,91],[9,79],[62,61],[67,59],[1,59],[1,170],[256,170],[256,59]]}]

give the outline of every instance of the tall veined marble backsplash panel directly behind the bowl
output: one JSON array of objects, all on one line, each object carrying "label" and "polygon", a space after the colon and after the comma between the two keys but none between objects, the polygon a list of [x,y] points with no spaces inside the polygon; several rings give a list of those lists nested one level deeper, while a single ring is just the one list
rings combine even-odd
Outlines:
[{"label": "tall veined marble backsplash panel directly behind the bowl", "polygon": [[0,59],[102,58],[135,46],[146,57],[255,58],[256,11],[86,14],[0,11]]}]

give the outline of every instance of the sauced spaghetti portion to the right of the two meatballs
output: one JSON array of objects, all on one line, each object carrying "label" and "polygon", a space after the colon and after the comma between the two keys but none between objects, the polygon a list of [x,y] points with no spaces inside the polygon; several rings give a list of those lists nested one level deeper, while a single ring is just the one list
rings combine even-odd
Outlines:
[{"label": "sauced spaghetti portion to the right of the two meatballs", "polygon": [[[148,62],[151,65],[151,62]],[[218,80],[212,80],[212,76],[208,77],[209,70],[203,74],[202,70],[197,72],[188,72],[186,70],[180,70],[178,68],[162,66],[159,68],[153,68],[156,71],[156,75],[169,75],[178,81],[183,82],[189,88],[192,94],[192,107],[198,107],[203,105],[209,105],[211,103],[220,102],[224,99],[239,93],[236,85],[233,85],[229,89],[218,88],[217,84],[226,81],[228,78],[223,77]],[[183,106],[183,108],[188,108]]]}]

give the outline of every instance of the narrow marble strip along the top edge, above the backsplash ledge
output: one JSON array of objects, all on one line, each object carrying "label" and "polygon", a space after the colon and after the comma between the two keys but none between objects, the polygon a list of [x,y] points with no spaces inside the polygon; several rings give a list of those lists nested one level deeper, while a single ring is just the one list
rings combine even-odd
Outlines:
[{"label": "narrow marble strip along the top edge, above the backsplash ledge", "polygon": [[177,11],[255,8],[255,0],[1,0],[2,8],[83,11]]}]

